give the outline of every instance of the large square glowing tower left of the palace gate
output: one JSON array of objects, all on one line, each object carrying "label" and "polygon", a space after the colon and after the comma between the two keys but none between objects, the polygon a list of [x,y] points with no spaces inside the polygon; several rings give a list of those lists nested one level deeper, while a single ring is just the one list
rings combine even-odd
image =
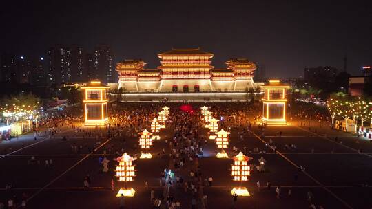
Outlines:
[{"label": "large square glowing tower left of the palace gate", "polygon": [[85,126],[105,126],[109,122],[107,116],[106,89],[109,89],[101,84],[101,81],[93,80],[87,84],[84,89],[84,114]]}]

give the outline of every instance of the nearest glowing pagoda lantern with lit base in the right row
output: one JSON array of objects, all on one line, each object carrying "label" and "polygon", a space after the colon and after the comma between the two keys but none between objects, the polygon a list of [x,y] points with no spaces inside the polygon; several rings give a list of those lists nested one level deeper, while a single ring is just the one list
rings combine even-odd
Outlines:
[{"label": "nearest glowing pagoda lantern with lit base in the right row", "polygon": [[234,164],[231,165],[231,175],[234,176],[234,181],[239,181],[239,187],[234,187],[231,190],[231,195],[250,196],[247,188],[241,186],[242,181],[248,181],[248,177],[251,175],[251,168],[248,165],[249,157],[240,152],[233,159]]}]

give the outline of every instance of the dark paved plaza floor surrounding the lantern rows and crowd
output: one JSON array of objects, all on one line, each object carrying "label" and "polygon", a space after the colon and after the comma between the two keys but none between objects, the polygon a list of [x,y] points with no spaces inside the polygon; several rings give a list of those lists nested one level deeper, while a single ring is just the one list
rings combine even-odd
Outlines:
[{"label": "dark paved plaza floor surrounding the lantern rows and crowd", "polygon": [[[176,107],[176,106],[175,106]],[[174,107],[172,107],[174,108]],[[213,108],[211,108],[213,110]],[[172,111],[172,109],[170,109]],[[199,111],[199,109],[196,109]],[[85,128],[87,130],[87,128]],[[21,198],[27,195],[27,208],[119,208],[116,192],[123,186],[116,181],[114,169],[118,147],[124,147],[130,155],[140,153],[135,144],[137,137],[107,137],[107,130],[94,130],[103,133],[102,137],[83,137],[82,132],[64,128],[54,137],[39,137],[34,140],[33,134],[22,135],[18,140],[0,143],[0,201],[8,198]],[[212,186],[203,186],[207,195],[207,205],[198,203],[198,208],[308,208],[307,193],[313,194],[313,203],[323,208],[371,208],[372,200],[372,143],[366,140],[355,142],[356,137],[342,133],[318,122],[306,122],[299,126],[297,121],[287,126],[269,126],[265,130],[253,126],[253,133],[239,140],[241,129],[229,130],[229,157],[244,147],[252,151],[251,164],[258,164],[264,157],[267,161],[265,172],[254,169],[249,181],[243,182],[251,197],[238,197],[233,204],[230,190],[238,186],[230,175],[231,159],[216,158],[216,144],[208,140],[203,146],[203,156],[198,158],[203,177],[213,177]],[[125,198],[125,208],[152,208],[150,191],[155,196],[171,194],[179,200],[181,208],[191,208],[192,195],[184,192],[182,186],[174,184],[170,188],[160,185],[159,178],[165,168],[169,168],[170,152],[165,139],[172,138],[173,124],[161,131],[161,140],[154,141],[152,159],[137,159],[136,177],[128,183],[136,190],[134,197]],[[201,135],[206,135],[205,128],[200,126]],[[68,140],[61,140],[68,136]],[[274,151],[269,146],[270,140]],[[83,148],[75,153],[71,146]],[[285,148],[295,144],[296,148]],[[163,148],[166,155],[158,155]],[[253,152],[258,148],[261,153]],[[91,152],[90,152],[91,151]],[[265,153],[262,153],[265,151]],[[120,153],[122,155],[123,153]],[[35,162],[30,163],[31,157]],[[110,172],[102,172],[100,157],[110,160]],[[45,166],[45,160],[52,159],[52,166]],[[38,161],[40,164],[38,164]],[[300,166],[304,168],[299,171]],[[194,168],[186,166],[179,173],[187,176]],[[89,188],[83,187],[84,178],[89,175]],[[114,180],[114,190],[111,182]],[[148,182],[148,187],[145,186]],[[260,188],[257,182],[260,182]],[[271,189],[267,188],[270,182]],[[11,190],[5,186],[12,184]],[[276,187],[280,186],[281,195],[276,197]],[[291,195],[289,195],[291,190]]]}]

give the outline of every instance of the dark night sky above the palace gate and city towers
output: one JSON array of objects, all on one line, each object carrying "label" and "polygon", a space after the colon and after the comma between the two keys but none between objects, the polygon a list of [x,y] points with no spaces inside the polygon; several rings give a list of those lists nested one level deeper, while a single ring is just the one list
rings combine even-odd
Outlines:
[{"label": "dark night sky above the palace gate and city towers", "polygon": [[372,65],[371,1],[1,1],[0,52],[45,56],[48,47],[112,47],[114,59],[142,58],[171,47],[202,47],[212,65],[249,58],[267,76],[302,76],[332,65],[361,74]]}]

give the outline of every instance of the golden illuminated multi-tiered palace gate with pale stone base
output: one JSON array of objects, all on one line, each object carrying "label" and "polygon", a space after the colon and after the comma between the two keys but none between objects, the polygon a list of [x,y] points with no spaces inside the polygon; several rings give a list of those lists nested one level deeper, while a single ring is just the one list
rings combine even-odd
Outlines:
[{"label": "golden illuminated multi-tiered palace gate with pale stone base", "polygon": [[141,60],[116,65],[118,88],[129,93],[247,92],[262,83],[253,82],[256,64],[245,58],[231,59],[226,69],[214,69],[214,54],[197,49],[172,49],[158,54],[161,66],[145,69]]}]

